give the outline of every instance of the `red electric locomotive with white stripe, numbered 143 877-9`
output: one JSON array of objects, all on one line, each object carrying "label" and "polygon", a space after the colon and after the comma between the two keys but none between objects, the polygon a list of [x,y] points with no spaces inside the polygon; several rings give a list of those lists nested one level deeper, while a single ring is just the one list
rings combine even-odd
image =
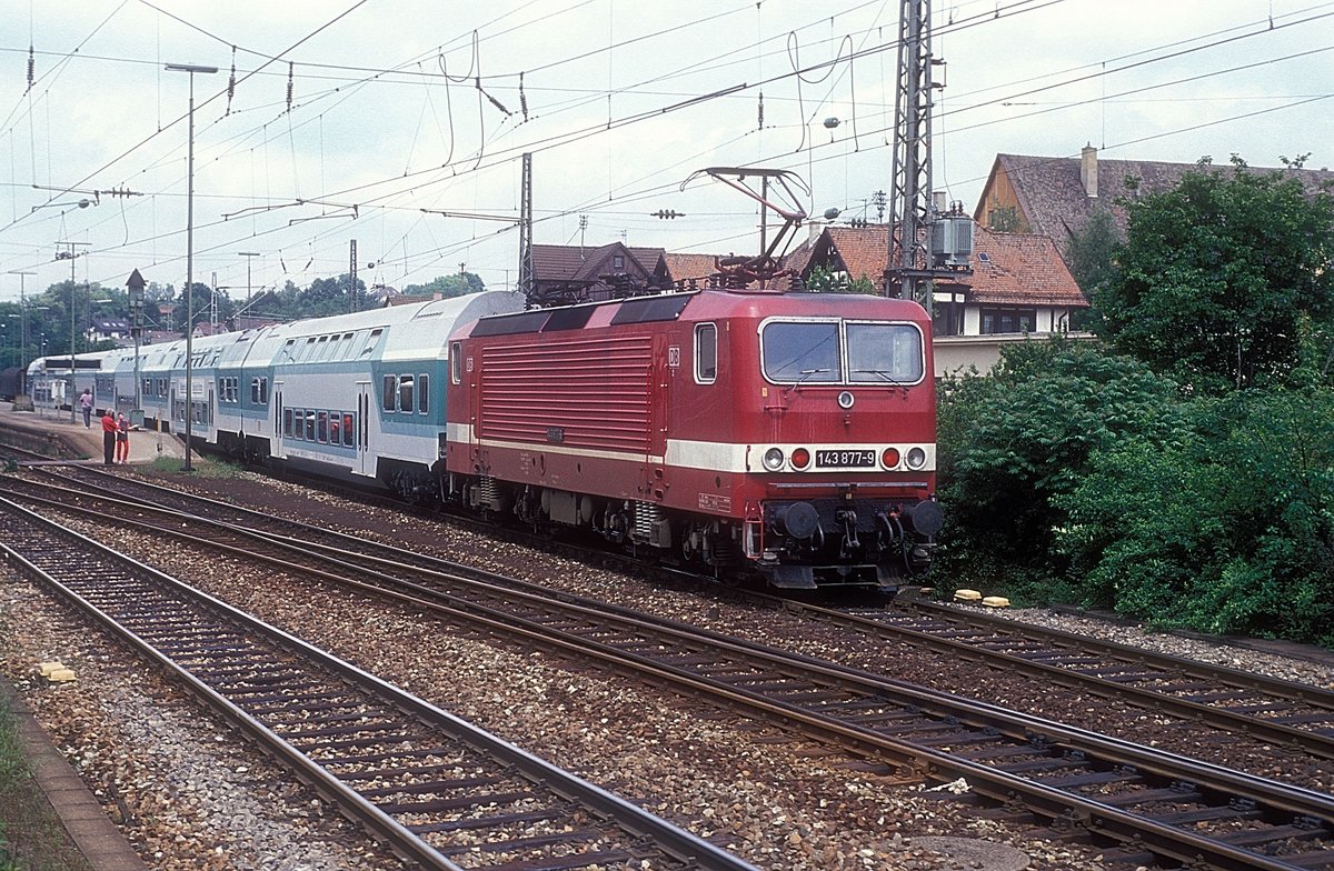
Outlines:
[{"label": "red electric locomotive with white stripe, numbered 143 877-9", "polygon": [[931,562],[935,385],[915,303],[695,291],[483,317],[450,343],[447,498],[771,586]]}]

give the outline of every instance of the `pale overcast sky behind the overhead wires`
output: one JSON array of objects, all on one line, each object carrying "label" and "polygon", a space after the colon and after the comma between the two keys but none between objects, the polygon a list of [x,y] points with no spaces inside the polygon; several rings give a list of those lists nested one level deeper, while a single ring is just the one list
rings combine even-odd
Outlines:
[{"label": "pale overcast sky behind the overhead wires", "polygon": [[[1334,165],[1334,3],[934,7],[947,61],[934,187],[968,211],[998,152],[1091,143],[1109,159],[1277,167],[1310,152],[1307,165]],[[191,76],[164,64],[219,68],[193,76],[193,275],[216,273],[232,299],[248,280],[257,292],[344,273],[354,239],[367,284],[460,264],[512,284],[523,152],[538,243],[755,252],[755,204],[687,183],[715,165],[788,169],[795,205],[875,220],[874,193],[891,187],[898,12],[894,0],[0,0],[0,300],[19,297],[9,272],[33,273],[28,292],[68,279],[61,241],[87,243],[73,245],[80,281],[123,287],[139,268],[184,284]],[[651,216],[663,209],[682,216]]]}]

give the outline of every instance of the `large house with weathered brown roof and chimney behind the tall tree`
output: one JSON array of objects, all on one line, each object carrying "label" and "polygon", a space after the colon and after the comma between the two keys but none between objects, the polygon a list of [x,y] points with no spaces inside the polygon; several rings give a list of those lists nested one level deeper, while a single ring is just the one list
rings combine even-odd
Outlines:
[{"label": "large house with weathered brown roof and chimney behind the tall tree", "polygon": [[[1065,256],[1066,243],[1097,212],[1111,215],[1125,236],[1126,209],[1119,199],[1169,191],[1186,173],[1202,169],[1231,172],[1231,165],[1105,160],[1091,145],[1079,157],[996,155],[972,220],[990,229],[1047,236]],[[1334,172],[1329,169],[1253,167],[1251,171],[1291,173],[1311,193],[1334,184]]]}]

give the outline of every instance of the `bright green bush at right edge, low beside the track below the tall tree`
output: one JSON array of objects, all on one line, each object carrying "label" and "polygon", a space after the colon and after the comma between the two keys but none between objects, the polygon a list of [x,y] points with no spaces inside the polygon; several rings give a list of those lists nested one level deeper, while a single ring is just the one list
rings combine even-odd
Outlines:
[{"label": "bright green bush at right edge, low beside the track below the tall tree", "polygon": [[1187,438],[1114,446],[1059,500],[1085,602],[1334,643],[1334,391],[1241,391],[1190,409]]}]

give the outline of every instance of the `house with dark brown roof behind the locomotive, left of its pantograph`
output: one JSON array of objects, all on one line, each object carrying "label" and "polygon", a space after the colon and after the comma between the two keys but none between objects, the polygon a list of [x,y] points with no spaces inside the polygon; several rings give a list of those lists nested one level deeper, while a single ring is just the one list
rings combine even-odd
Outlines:
[{"label": "house with dark brown roof behind the locomotive, left of its pantograph", "polygon": [[546,301],[611,299],[626,287],[671,285],[662,248],[631,248],[614,241],[599,248],[534,245],[534,296]]}]

